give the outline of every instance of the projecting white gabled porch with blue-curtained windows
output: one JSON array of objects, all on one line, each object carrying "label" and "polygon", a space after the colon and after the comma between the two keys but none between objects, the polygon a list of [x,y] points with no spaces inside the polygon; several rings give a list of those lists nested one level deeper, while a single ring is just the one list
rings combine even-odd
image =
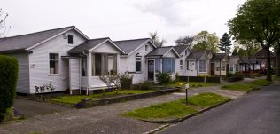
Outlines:
[{"label": "projecting white gabled porch with blue-curtained windows", "polygon": [[155,81],[155,75],[158,72],[169,72],[175,75],[176,59],[180,58],[180,55],[173,46],[167,46],[152,50],[145,58],[145,62],[148,63],[148,80]]}]

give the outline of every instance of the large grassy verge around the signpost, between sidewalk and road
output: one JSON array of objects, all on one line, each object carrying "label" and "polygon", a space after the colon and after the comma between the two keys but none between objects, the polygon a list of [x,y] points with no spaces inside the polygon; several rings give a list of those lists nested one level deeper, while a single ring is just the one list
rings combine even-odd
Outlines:
[{"label": "large grassy verge around the signpost, between sidewalk and road", "polygon": [[185,99],[178,99],[167,103],[139,108],[122,115],[144,120],[183,118],[183,116],[186,116],[187,114],[198,112],[198,110],[203,107],[213,106],[226,100],[228,100],[228,98],[224,98],[214,93],[202,93],[190,97],[190,105],[185,104]]}]

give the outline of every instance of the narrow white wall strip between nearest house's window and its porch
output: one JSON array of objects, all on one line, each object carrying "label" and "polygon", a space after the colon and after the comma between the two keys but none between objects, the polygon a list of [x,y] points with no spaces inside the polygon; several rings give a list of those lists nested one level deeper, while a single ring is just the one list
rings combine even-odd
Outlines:
[{"label": "narrow white wall strip between nearest house's window and its porch", "polygon": [[80,59],[69,59],[70,90],[80,89]]}]

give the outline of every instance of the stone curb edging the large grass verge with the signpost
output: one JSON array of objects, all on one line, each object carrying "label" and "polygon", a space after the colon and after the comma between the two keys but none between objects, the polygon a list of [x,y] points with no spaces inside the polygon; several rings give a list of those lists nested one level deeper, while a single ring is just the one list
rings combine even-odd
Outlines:
[{"label": "stone curb edging the large grass verge with the signpost", "polygon": [[188,115],[184,116],[183,118],[176,118],[176,119],[171,119],[171,120],[160,120],[160,121],[144,120],[144,119],[140,119],[140,120],[141,120],[141,121],[144,121],[144,122],[152,122],[152,123],[177,123],[177,122],[183,122],[183,121],[186,120],[186,119],[189,119],[189,118],[191,118],[191,117],[193,117],[193,116],[196,116],[196,115],[198,115],[198,114],[202,114],[202,113],[204,113],[204,112],[206,112],[206,111],[209,111],[209,110],[211,110],[211,109],[213,109],[213,108],[215,108],[215,107],[217,107],[217,106],[222,106],[223,104],[226,104],[226,103],[228,103],[228,102],[231,101],[231,100],[233,100],[233,99],[228,99],[228,100],[226,100],[226,101],[224,101],[224,102],[222,102],[222,103],[216,104],[216,105],[214,105],[214,106],[206,107],[206,108],[204,108],[204,109],[199,110],[199,111],[196,112],[196,113],[188,114]]}]

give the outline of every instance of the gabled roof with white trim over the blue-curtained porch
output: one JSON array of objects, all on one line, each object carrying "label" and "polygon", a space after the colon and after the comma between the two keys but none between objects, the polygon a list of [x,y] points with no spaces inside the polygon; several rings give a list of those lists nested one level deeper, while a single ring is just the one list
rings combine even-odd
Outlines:
[{"label": "gabled roof with white trim over the blue-curtained porch", "polygon": [[174,51],[177,57],[180,57],[177,51],[173,48],[173,46],[166,46],[166,47],[159,47],[154,50],[152,50],[150,53],[146,55],[146,57],[151,57],[151,56],[165,56],[167,52],[169,51]]}]

